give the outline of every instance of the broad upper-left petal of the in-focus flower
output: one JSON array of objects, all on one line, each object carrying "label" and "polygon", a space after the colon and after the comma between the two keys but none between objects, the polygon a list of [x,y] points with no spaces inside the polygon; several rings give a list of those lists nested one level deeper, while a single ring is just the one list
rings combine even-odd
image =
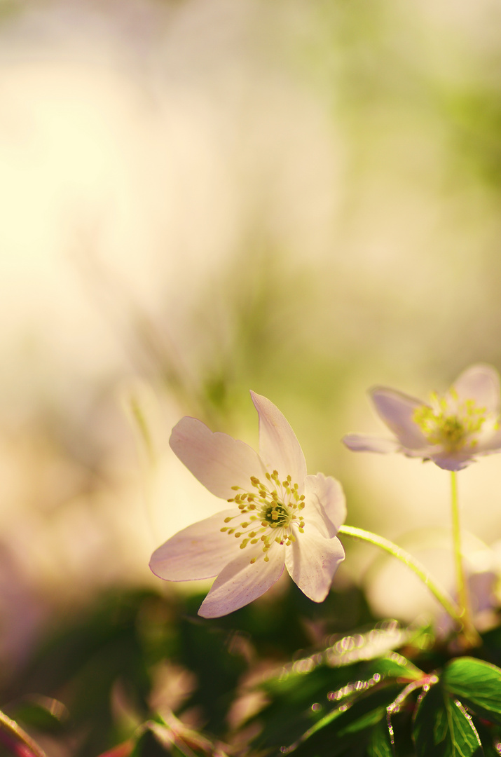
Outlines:
[{"label": "broad upper-left petal of the in-focus flower", "polygon": [[250,476],[263,476],[263,464],[252,447],[185,416],[174,426],[170,447],[201,484],[223,500],[235,497],[232,486],[253,491]]}]

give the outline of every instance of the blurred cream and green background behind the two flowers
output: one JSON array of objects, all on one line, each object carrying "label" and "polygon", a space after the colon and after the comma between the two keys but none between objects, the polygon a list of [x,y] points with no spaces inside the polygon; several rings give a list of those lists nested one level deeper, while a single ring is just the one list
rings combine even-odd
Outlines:
[{"label": "blurred cream and green background behind the two flowers", "polygon": [[[250,388],[309,472],[342,482],[350,525],[452,581],[447,474],[340,440],[384,433],[372,385],[425,398],[470,363],[501,369],[500,16],[493,0],[0,2],[5,692],[105,592],[193,590],[148,570],[221,507],[170,430],[194,415],[256,445]],[[459,477],[472,565],[501,539],[499,474],[493,456]],[[434,611],[346,546],[335,587],[362,585],[376,617]]]}]

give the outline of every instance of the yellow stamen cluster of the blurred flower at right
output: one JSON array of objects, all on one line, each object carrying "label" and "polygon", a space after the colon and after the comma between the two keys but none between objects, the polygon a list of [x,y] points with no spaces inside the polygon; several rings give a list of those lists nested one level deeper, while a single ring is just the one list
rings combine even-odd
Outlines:
[{"label": "yellow stamen cluster of the blurred flower at right", "polygon": [[467,444],[475,447],[475,434],[481,430],[487,417],[487,408],[477,407],[475,400],[459,398],[454,389],[446,397],[431,394],[431,407],[422,405],[415,410],[413,419],[430,444],[441,444],[448,452],[461,450]]}]

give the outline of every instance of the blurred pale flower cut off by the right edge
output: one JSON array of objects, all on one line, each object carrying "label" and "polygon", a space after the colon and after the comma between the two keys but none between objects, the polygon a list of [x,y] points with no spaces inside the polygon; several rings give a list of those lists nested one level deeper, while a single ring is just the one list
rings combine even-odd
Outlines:
[{"label": "blurred pale flower cut off by the right edge", "polygon": [[372,389],[371,396],[396,438],[349,434],[343,441],[350,450],[401,452],[448,471],[501,451],[499,375],[491,366],[466,369],[443,397],[432,393],[430,403],[386,387]]}]

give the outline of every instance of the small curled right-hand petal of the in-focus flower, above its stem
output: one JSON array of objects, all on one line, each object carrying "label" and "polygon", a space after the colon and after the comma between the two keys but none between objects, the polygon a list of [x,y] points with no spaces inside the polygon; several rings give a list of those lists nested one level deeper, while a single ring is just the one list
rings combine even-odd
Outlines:
[{"label": "small curled right-hand petal of the in-focus flower, above its stem", "polygon": [[301,515],[305,522],[315,525],[326,538],[335,536],[346,519],[346,501],[339,481],[323,473],[308,475],[304,494]]}]

